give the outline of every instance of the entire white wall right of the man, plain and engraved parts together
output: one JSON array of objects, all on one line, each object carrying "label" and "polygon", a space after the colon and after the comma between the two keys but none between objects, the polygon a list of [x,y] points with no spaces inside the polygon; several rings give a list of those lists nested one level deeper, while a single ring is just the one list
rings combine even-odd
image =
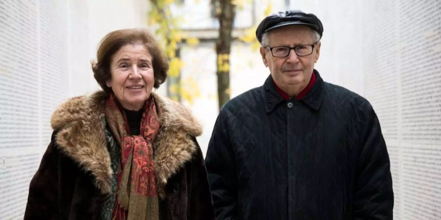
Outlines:
[{"label": "entire white wall right of the man, plain and engraved parts together", "polygon": [[441,1],[291,6],[323,22],[317,68],[324,80],[366,97],[378,115],[391,159],[394,219],[440,220]]}]

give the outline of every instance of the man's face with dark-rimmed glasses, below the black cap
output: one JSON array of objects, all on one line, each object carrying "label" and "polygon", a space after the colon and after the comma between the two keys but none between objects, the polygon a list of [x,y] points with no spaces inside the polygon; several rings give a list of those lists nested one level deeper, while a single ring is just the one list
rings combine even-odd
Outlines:
[{"label": "man's face with dark-rimmed glasses, below the black cap", "polygon": [[[266,46],[294,47],[303,44],[314,44],[312,31],[307,26],[289,25],[271,30],[268,33]],[[261,47],[260,53],[265,66],[270,68],[272,79],[278,87],[290,96],[297,95],[305,88],[319,60],[320,42],[314,45],[312,54],[298,57],[294,49],[287,57],[273,57],[270,49]],[[294,92],[294,94],[293,94]]]}]

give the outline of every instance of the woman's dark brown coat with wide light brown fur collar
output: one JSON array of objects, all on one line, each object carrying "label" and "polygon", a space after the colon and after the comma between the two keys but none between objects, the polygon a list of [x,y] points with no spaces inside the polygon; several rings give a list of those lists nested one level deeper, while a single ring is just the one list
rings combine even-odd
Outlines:
[{"label": "woman's dark brown coat with wide light brown fur collar", "polygon": [[[189,110],[152,93],[161,127],[154,146],[161,220],[210,220],[214,208],[202,152],[201,126]],[[51,119],[52,140],[32,178],[25,220],[98,220],[111,192],[105,138],[106,94],[62,104]]]}]

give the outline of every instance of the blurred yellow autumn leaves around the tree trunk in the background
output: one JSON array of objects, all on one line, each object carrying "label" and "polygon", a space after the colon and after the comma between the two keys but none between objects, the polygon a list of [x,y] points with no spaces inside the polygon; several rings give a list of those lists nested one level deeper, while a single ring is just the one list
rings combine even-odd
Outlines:
[{"label": "blurred yellow autumn leaves around the tree trunk in the background", "polygon": [[[180,22],[183,21],[183,18],[172,15],[171,5],[179,4],[180,2],[181,0],[150,0],[147,22],[155,29],[155,35],[169,58],[169,77],[175,79],[170,81],[173,82],[168,88],[170,94],[179,94],[182,100],[192,104],[194,98],[200,96],[198,85],[193,77],[189,76],[184,79],[180,76],[181,69],[185,64],[176,56],[176,51],[179,49],[179,44],[196,46],[199,44],[199,40],[185,36],[180,30]],[[252,0],[232,0],[232,4],[236,6],[236,10],[241,10],[245,4],[251,3]],[[268,16],[271,11],[272,8],[268,1],[264,11],[265,16]],[[256,28],[257,25],[252,26],[245,31],[243,36],[239,36],[239,40],[250,44],[254,50],[257,50],[260,46],[255,37]],[[228,61],[229,54],[218,55],[217,64],[219,72],[229,71],[230,66]],[[230,93],[229,88],[227,90],[226,92]],[[178,99],[177,96],[172,96],[171,98]]]}]

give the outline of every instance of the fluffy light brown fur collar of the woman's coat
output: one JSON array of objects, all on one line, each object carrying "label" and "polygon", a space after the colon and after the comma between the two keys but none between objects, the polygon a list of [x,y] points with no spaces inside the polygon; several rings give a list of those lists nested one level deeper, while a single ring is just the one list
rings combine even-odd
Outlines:
[{"label": "fluffy light brown fur collar of the woman's coat", "polygon": [[[202,133],[202,127],[181,104],[153,92],[152,95],[161,121],[153,146],[156,181],[158,191],[162,191],[167,179],[196,152],[193,137]],[[61,151],[95,176],[95,185],[104,194],[111,192],[113,172],[102,123],[106,97],[103,91],[98,91],[72,98],[60,105],[51,118],[52,129],[58,131],[55,141]]]}]

